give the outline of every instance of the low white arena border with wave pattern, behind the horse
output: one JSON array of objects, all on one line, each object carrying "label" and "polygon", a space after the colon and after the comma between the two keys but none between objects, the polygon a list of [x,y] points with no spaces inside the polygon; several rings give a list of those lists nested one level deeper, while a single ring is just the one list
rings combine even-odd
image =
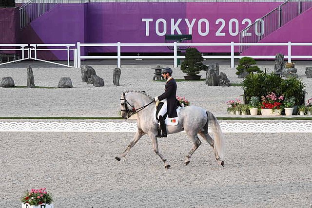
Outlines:
[{"label": "low white arena border with wave pattern, behind the horse", "polygon": [[[226,123],[220,122],[224,133],[312,132],[312,123]],[[128,122],[0,122],[0,132],[136,132],[137,123]],[[209,130],[209,132],[211,132]]]}]

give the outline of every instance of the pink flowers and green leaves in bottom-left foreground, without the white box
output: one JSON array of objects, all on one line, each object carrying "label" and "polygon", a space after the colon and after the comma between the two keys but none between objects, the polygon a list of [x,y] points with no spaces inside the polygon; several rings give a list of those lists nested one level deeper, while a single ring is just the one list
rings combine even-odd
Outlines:
[{"label": "pink flowers and green leaves in bottom-left foreground, without the white box", "polygon": [[21,198],[21,202],[29,205],[41,205],[51,204],[53,202],[51,194],[47,193],[45,188],[31,189],[31,191],[26,191],[24,196]]}]

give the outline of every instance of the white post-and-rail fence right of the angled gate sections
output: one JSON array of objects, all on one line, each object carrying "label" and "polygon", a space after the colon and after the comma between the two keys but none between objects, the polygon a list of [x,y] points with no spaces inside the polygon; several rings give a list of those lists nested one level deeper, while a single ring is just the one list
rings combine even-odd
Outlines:
[{"label": "white post-and-rail fence right of the angled gate sections", "polygon": [[[121,67],[121,59],[134,59],[134,58],[162,58],[162,59],[174,59],[174,67],[177,67],[177,60],[180,58],[185,58],[185,56],[178,56],[177,51],[179,46],[228,46],[229,52],[231,55],[228,56],[203,56],[203,58],[221,58],[221,59],[231,59],[231,68],[234,68],[234,59],[235,58],[242,58],[244,56],[236,56],[234,55],[234,46],[285,46],[287,47],[287,55],[284,58],[288,59],[288,62],[292,62],[292,58],[301,58],[301,59],[310,59],[312,56],[293,56],[292,55],[292,46],[312,46],[312,43],[80,43],[77,42],[77,61],[78,61],[78,68],[81,67],[81,59],[117,59],[117,67]],[[98,47],[98,46],[116,46],[117,47],[117,56],[81,56],[80,51],[81,47]],[[121,56],[121,47],[129,47],[129,46],[174,46],[174,55],[173,56]],[[312,49],[310,50],[312,51]],[[248,56],[252,58],[258,59],[274,59],[275,55],[273,56]]]}]

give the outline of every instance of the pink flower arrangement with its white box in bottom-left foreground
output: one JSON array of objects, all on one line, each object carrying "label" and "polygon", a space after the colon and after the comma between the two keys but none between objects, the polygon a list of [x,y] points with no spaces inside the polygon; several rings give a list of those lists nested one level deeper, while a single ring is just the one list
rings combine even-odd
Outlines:
[{"label": "pink flower arrangement with its white box in bottom-left foreground", "polygon": [[31,189],[25,191],[24,196],[21,198],[21,208],[54,208],[51,194],[49,194],[46,188]]}]

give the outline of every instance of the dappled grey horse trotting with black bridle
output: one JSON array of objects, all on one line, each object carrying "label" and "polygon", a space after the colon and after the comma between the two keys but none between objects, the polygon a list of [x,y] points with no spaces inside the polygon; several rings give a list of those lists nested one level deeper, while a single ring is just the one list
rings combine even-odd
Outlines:
[{"label": "dappled grey horse trotting with black bridle", "polygon": [[[156,154],[165,163],[165,168],[170,168],[167,159],[159,152],[157,144],[157,124],[153,121],[153,111],[156,102],[154,98],[147,95],[144,91],[124,91],[120,98],[121,116],[125,119],[129,118],[132,114],[137,113],[137,132],[134,139],[129,143],[126,150],[115,157],[118,161],[121,157],[127,155],[137,141],[147,134],[153,142],[153,148]],[[211,130],[214,133],[214,139],[208,134],[208,124],[211,125]],[[185,164],[190,163],[190,158],[195,150],[200,146],[201,141],[197,134],[206,140],[214,149],[215,159],[217,162],[224,166],[224,145],[225,140],[219,123],[215,116],[197,106],[183,107],[180,111],[179,122],[176,126],[166,126],[167,133],[177,133],[185,131],[191,142],[193,148],[188,152],[185,159]]]}]

